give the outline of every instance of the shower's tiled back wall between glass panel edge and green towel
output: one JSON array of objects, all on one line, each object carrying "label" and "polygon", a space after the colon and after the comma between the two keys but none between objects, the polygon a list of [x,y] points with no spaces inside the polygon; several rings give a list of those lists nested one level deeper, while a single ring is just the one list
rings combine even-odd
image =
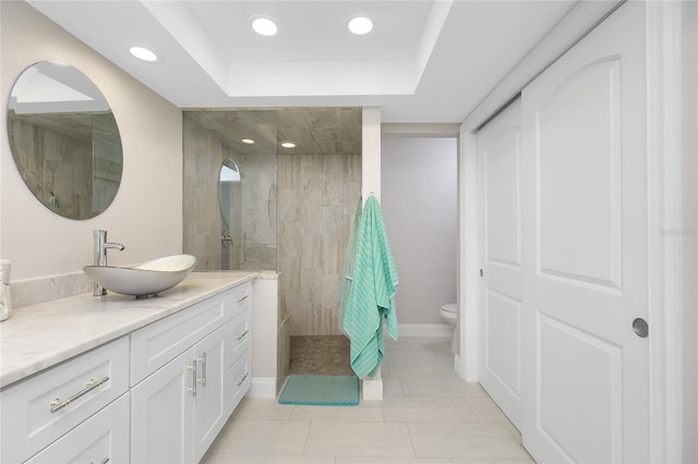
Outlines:
[{"label": "shower's tiled back wall between glass panel edge and green towel", "polygon": [[339,334],[339,289],[361,154],[279,155],[278,271],[292,335]]}]

